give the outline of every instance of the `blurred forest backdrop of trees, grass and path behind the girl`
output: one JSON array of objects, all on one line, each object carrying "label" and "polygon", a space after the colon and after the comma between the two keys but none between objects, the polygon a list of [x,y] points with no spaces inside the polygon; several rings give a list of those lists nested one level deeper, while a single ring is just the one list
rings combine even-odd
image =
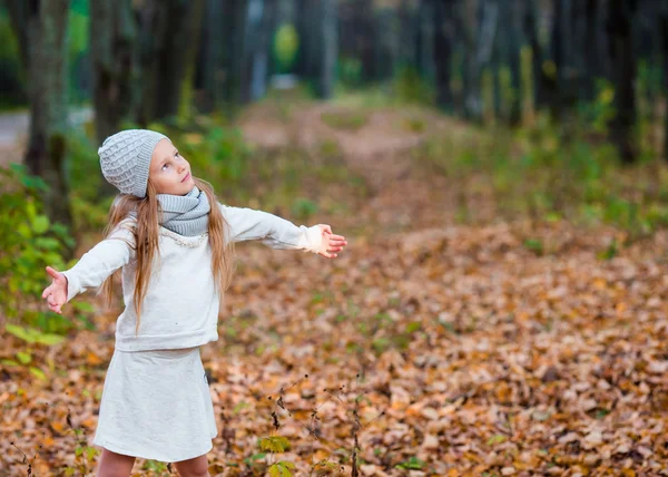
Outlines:
[{"label": "blurred forest backdrop of trees, grass and path behind the girl", "polygon": [[131,127],[224,201],[353,231],[668,222],[666,1],[4,0],[0,39],[17,280],[105,225],[96,150]]}]

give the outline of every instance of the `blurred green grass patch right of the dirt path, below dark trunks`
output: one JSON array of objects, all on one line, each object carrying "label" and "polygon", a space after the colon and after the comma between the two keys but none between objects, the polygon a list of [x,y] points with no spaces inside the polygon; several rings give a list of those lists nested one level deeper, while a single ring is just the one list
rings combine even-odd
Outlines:
[{"label": "blurred green grass patch right of the dirt path, below dark trunks", "polygon": [[631,238],[668,225],[668,165],[657,158],[623,167],[600,135],[567,139],[547,123],[518,130],[470,127],[428,138],[413,156],[429,174],[451,177],[462,198],[475,191],[493,198],[503,217],[612,224]]}]

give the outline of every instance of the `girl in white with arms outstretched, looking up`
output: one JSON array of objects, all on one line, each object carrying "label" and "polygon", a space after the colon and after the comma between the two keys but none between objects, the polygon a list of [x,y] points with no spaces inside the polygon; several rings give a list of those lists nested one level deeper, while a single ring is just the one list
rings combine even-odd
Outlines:
[{"label": "girl in white with arms outstretched, looking up", "polygon": [[218,339],[220,294],[229,285],[234,243],[327,259],[347,244],[328,225],[306,227],[262,211],[217,202],[212,186],[164,135],[129,129],[99,148],[105,178],[121,194],[106,238],[53,279],[42,298],[65,303],[122,267],[125,310],[105,379],[94,444],[98,476],[129,476],[136,457],[175,463],[181,476],[207,476],[206,454],[218,430],[199,347]]}]

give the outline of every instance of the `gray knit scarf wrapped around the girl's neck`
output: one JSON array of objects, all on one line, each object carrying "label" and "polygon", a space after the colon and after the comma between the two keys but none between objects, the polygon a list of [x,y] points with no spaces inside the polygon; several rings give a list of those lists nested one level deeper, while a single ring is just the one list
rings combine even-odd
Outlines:
[{"label": "gray knit scarf wrapped around the girl's neck", "polygon": [[212,210],[206,194],[197,186],[186,195],[157,194],[163,210],[160,225],[179,235],[195,236],[208,230]]}]

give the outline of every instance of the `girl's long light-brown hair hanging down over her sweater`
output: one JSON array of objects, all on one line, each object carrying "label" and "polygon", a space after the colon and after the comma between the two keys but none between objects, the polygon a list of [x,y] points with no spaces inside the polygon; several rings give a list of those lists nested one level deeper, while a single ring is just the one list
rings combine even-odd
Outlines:
[{"label": "girl's long light-brown hair hanging down over her sweater", "polygon": [[[195,185],[206,194],[210,205],[208,217],[208,240],[212,247],[212,274],[219,294],[223,294],[232,282],[234,274],[234,243],[228,237],[228,224],[217,204],[214,187],[200,178],[193,177]],[[105,227],[105,236],[109,236],[117,225],[135,212],[137,224],[132,227],[135,243],[129,244],[136,251],[137,264],[135,269],[135,312],[137,314],[137,327],[135,333],[139,332],[141,317],[141,304],[148,290],[154,257],[159,257],[158,249],[159,224],[161,222],[161,210],[157,198],[157,192],[150,179],[147,184],[146,196],[139,198],[131,194],[119,194],[109,210],[109,218]],[[107,305],[114,299],[114,275],[107,278],[101,288],[107,298]]]}]

